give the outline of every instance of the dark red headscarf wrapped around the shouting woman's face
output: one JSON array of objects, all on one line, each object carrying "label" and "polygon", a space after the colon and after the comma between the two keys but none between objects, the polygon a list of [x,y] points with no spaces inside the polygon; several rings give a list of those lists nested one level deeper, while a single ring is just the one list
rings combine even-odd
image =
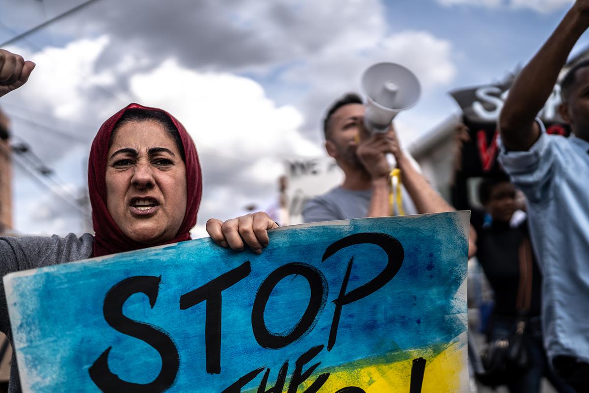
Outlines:
[{"label": "dark red headscarf wrapped around the shouting woman's face", "polygon": [[[166,114],[176,125],[180,133],[180,139],[184,146],[184,156],[186,157],[186,183],[187,183],[187,203],[184,221],[178,229],[174,239],[158,244],[143,244],[128,238],[117,224],[107,209],[107,188],[106,188],[106,169],[108,145],[110,144],[112,130],[118,120],[123,116],[127,109],[151,109]],[[134,249],[153,247],[155,245],[170,244],[190,239],[190,229],[196,225],[196,215],[200,198],[203,192],[203,178],[198,162],[198,154],[194,142],[184,126],[177,121],[174,116],[158,108],[148,108],[139,104],[130,104],[121,109],[110,119],[104,122],[98,134],[92,142],[90,149],[90,159],[88,160],[88,190],[90,191],[90,202],[92,204],[92,225],[94,226],[95,241],[93,257],[101,255],[115,254],[116,252],[131,251]]]}]

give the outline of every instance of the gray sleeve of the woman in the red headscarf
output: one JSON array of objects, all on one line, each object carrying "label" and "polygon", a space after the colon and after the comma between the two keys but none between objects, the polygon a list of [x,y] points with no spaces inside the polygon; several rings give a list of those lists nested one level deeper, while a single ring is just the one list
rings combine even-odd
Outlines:
[{"label": "gray sleeve of the woman in the red headscarf", "polygon": [[[63,264],[90,258],[94,237],[84,234],[78,238],[69,234],[65,238],[53,235],[47,237],[0,237],[0,277],[4,275],[44,266]],[[0,330],[12,342],[4,282],[0,281]],[[16,358],[12,352],[9,393],[21,392],[21,381],[18,378]]]}]

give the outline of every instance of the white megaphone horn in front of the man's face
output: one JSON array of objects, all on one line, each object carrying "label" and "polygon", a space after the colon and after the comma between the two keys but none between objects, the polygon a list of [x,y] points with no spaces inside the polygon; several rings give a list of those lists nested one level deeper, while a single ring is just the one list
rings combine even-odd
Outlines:
[{"label": "white megaphone horn in front of the man's face", "polygon": [[396,114],[415,105],[421,95],[417,76],[395,63],[371,65],[361,84],[366,96],[364,125],[370,132],[386,132]]}]

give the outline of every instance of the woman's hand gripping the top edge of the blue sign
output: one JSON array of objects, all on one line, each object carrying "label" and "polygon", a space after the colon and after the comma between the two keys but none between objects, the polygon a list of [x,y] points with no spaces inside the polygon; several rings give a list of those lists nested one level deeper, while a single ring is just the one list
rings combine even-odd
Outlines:
[{"label": "woman's hand gripping the top edge of the blue sign", "polygon": [[207,221],[207,232],[221,247],[242,251],[247,246],[256,254],[262,254],[262,248],[270,242],[268,229],[278,226],[266,213],[256,212],[225,222],[211,218]]}]

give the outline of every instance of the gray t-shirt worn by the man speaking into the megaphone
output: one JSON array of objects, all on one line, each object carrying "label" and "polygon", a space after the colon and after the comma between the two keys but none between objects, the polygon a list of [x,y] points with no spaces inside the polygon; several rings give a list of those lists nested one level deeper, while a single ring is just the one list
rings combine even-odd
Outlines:
[{"label": "gray t-shirt worn by the man speaking into the megaphone", "polygon": [[[405,187],[401,187],[401,193],[405,214],[418,214]],[[362,190],[352,190],[342,186],[333,188],[326,194],[315,196],[306,202],[303,208],[303,221],[321,222],[366,217],[371,196],[372,188]]]}]

